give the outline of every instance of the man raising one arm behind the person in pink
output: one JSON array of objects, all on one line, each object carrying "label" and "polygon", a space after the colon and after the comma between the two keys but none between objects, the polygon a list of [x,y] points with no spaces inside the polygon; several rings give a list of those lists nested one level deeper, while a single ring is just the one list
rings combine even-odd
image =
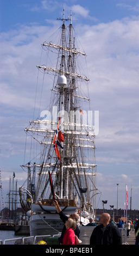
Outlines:
[{"label": "man raising one arm behind the person in pink", "polygon": [[[69,217],[67,217],[67,216],[64,214],[64,212],[62,212],[62,210],[61,210],[61,208],[60,208],[60,206],[59,206],[59,204],[58,204],[58,202],[57,202],[56,200],[54,200],[54,205],[55,205],[55,207],[56,207],[56,210],[57,210],[57,212],[58,212],[58,214],[59,214],[59,216],[60,216],[62,222],[65,223],[65,222],[68,220],[68,218],[73,218],[76,222],[79,220],[79,215],[78,215],[76,212],[74,212],[74,214],[69,214]],[[61,236],[59,237],[59,243],[60,243],[60,245],[62,245],[62,240],[63,240],[63,236],[64,236],[64,233],[65,233],[65,230],[66,230],[66,226],[64,225],[64,227],[63,227],[63,229],[62,229]],[[80,230],[79,230],[79,228],[78,228],[78,225],[76,226],[76,229],[74,230],[74,233],[75,233],[75,235],[77,235],[78,238],[79,238]]]}]

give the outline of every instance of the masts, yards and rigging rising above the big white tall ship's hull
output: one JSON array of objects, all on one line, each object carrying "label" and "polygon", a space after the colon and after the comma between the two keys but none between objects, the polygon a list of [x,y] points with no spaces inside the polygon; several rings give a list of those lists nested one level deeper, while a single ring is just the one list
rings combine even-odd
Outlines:
[{"label": "masts, yards and rigging rising above the big white tall ship's hull", "polygon": [[[79,80],[89,81],[89,78],[78,74],[75,69],[75,59],[78,55],[86,56],[84,52],[81,52],[75,48],[75,39],[73,38],[73,27],[72,27],[72,11],[71,17],[65,19],[65,13],[63,11],[62,18],[57,18],[57,20],[62,21],[62,33],[61,33],[61,43],[53,44],[52,42],[45,42],[42,46],[45,48],[52,47],[59,51],[61,54],[60,63],[56,68],[48,67],[45,65],[38,65],[37,68],[49,74],[53,72],[55,75],[58,74],[58,80],[52,91],[55,95],[58,95],[56,99],[58,102],[58,112],[61,118],[61,131],[64,134],[64,149],[60,151],[61,161],[55,161],[56,156],[53,149],[53,138],[55,133],[55,121],[47,119],[37,119],[30,121],[30,126],[25,130],[27,133],[34,133],[38,135],[36,141],[39,142],[44,147],[44,152],[46,150],[46,158],[43,157],[40,163],[34,163],[29,165],[23,165],[22,167],[27,167],[33,169],[34,167],[39,168],[39,186],[41,188],[40,199],[43,198],[43,193],[45,188],[47,188],[48,178],[46,182],[41,186],[43,175],[48,176],[48,170],[51,169],[54,174],[54,188],[58,197],[60,199],[73,199],[75,193],[80,197],[79,187],[87,186],[87,180],[92,182],[93,169],[96,167],[96,163],[92,163],[93,155],[92,151],[96,149],[94,145],[94,127],[92,125],[87,125],[78,122],[77,112],[79,112],[79,103],[77,99],[90,100],[87,97],[77,95],[77,86]],[[69,38],[66,41],[66,27],[65,21],[69,21]],[[60,57],[60,56],[59,56]],[[77,81],[77,82],[76,82]],[[53,107],[50,106],[50,109]],[[65,112],[68,115],[67,123]],[[80,115],[80,113],[79,113]],[[59,118],[58,117],[58,118]],[[44,136],[43,139],[39,138]],[[92,149],[92,151],[90,150]],[[88,157],[86,157],[85,150],[87,151]],[[52,153],[53,157],[48,161],[48,153]],[[86,158],[85,158],[86,157]],[[91,160],[90,160],[91,159]],[[58,164],[57,164],[58,162]],[[57,168],[57,171],[56,171]],[[87,177],[87,178],[86,178]],[[92,183],[93,184],[93,183]],[[92,185],[93,186],[93,185]],[[38,189],[36,188],[36,190]],[[51,196],[51,195],[50,195]],[[49,197],[50,197],[49,196]],[[37,199],[38,197],[36,197]]]}]

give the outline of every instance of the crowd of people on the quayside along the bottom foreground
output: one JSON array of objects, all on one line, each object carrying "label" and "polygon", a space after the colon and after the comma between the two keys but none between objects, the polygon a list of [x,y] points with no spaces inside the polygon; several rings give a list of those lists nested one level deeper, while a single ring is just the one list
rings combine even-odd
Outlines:
[{"label": "crowd of people on the quayside along the bottom foreground", "polygon": [[[67,217],[64,212],[62,212],[56,200],[54,200],[54,204],[62,222],[65,223],[61,236],[59,237],[59,244],[77,244],[77,240],[79,241],[80,236],[80,229],[77,225],[77,222],[79,221],[79,215],[75,212],[74,214],[70,214],[69,217]],[[111,220],[108,213],[103,213],[100,216],[100,223],[98,225],[94,223],[93,219],[90,217],[87,226],[95,226],[90,237],[90,245],[122,245],[122,233],[119,228],[123,228],[123,224],[124,223],[121,219],[118,220],[118,223],[115,223],[113,220]],[[81,223],[81,225],[83,225],[83,223]],[[134,223],[128,221],[125,224],[128,237],[130,235],[132,225],[134,225],[135,229],[135,245],[138,245],[139,221],[136,219]]]}]

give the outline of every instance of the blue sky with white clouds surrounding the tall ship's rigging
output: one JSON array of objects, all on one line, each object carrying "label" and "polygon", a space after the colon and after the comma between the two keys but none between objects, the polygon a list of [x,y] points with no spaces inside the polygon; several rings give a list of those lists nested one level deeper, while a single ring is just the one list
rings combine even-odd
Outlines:
[{"label": "blue sky with white clouds surrounding the tall ship's rigging", "polygon": [[[9,177],[26,179],[24,128],[33,117],[36,65],[41,43],[61,26],[56,17],[73,13],[73,26],[87,53],[91,108],[99,110],[96,136],[97,187],[101,200],[124,208],[125,185],[139,209],[139,3],[135,0],[1,0],[1,171],[3,194]],[[98,208],[102,208],[100,200]]]}]

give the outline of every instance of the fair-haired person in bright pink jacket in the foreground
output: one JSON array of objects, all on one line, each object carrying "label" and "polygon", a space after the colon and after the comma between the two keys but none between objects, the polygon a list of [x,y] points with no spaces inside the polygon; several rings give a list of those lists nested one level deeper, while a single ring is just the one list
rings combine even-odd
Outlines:
[{"label": "fair-haired person in bright pink jacket in the foreground", "polygon": [[63,245],[75,245],[75,233],[76,221],[72,218],[68,218],[65,222],[66,231],[63,237]]}]

